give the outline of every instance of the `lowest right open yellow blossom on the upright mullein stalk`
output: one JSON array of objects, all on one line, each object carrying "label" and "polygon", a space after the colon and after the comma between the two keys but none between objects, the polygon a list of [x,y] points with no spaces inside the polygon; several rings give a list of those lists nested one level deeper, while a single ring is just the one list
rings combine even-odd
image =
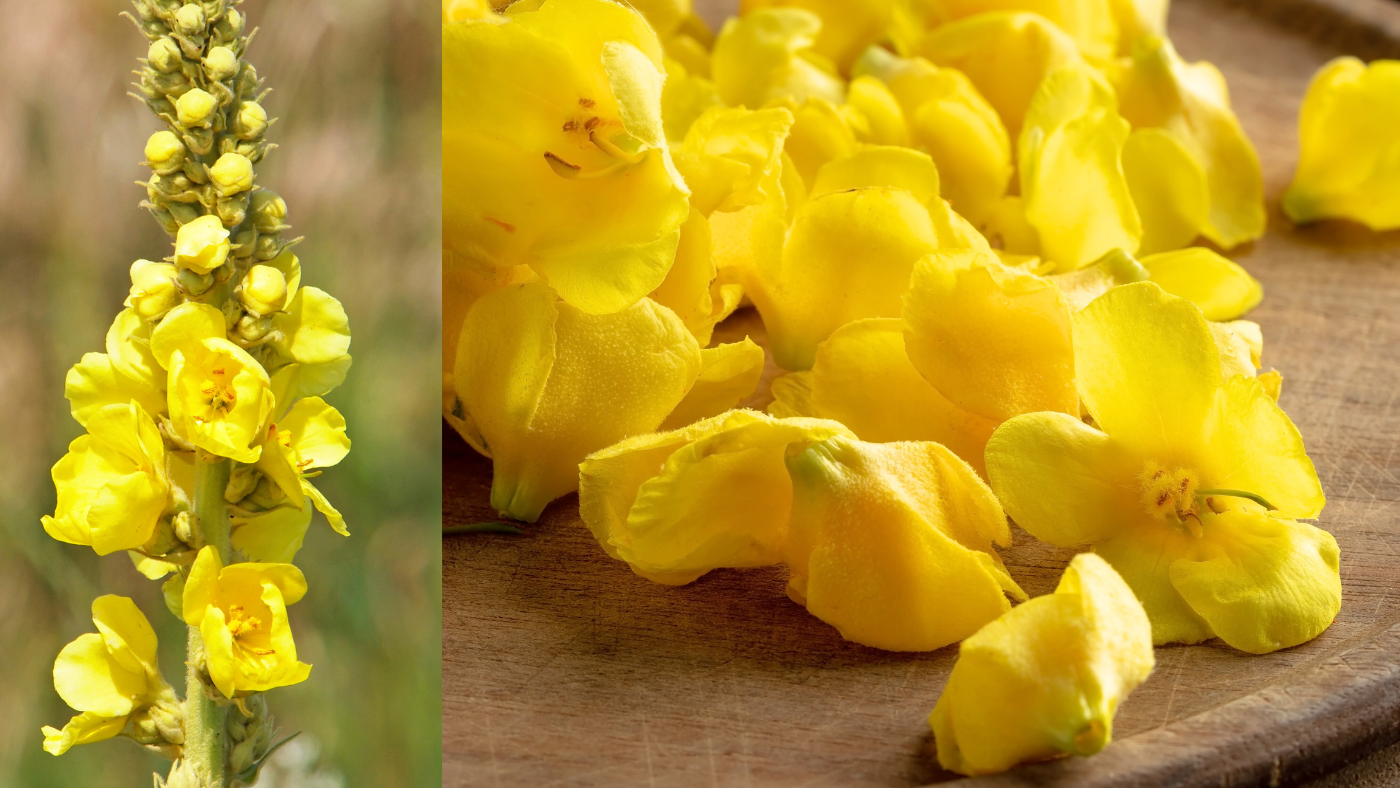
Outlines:
[{"label": "lowest right open yellow blossom on the upright mullein stalk", "polygon": [[223,565],[206,546],[185,581],[185,623],[204,637],[209,677],[227,698],[305,682],[311,665],[297,661],[287,605],[307,593],[291,564]]}]

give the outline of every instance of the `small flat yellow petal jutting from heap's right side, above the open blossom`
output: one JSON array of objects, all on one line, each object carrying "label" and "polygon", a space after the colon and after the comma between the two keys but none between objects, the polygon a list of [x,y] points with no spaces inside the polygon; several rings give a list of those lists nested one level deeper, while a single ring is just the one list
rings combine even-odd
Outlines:
[{"label": "small flat yellow petal jutting from heap's right side, above the open blossom", "polygon": [[1239,263],[1203,246],[1148,255],[1138,260],[1152,281],[1200,308],[1207,321],[1229,321],[1264,298],[1264,287]]}]

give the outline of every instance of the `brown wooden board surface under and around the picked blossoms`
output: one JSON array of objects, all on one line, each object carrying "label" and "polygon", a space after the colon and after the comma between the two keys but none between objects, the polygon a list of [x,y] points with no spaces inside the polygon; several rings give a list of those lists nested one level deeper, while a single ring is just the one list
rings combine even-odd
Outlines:
[{"label": "brown wooden board surface under and around the picked blossoms", "polygon": [[[1400,232],[1295,230],[1277,210],[1308,78],[1344,50],[1400,56],[1400,6],[1179,0],[1170,32],[1225,73],[1264,165],[1270,232],[1233,256],[1264,283],[1252,318],[1329,495],[1343,609],[1317,640],[1266,656],[1159,648],[1107,750],[986,784],[1289,785],[1400,739]],[[752,312],[721,329],[762,340]],[[494,519],[489,484],[490,462],[445,434],[444,523]],[[1004,557],[1036,595],[1068,551],[1018,530]],[[956,778],[925,724],[956,649],[848,644],[784,596],[778,570],[650,584],[603,554],[570,495],[526,536],[447,537],[442,582],[444,785]]]}]

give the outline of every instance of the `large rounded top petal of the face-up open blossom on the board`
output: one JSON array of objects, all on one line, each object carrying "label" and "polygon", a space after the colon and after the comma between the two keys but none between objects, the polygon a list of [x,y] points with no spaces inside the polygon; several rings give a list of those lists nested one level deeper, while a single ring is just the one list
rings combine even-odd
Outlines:
[{"label": "large rounded top petal of the face-up open blossom on the board", "polygon": [[1075,315],[1074,370],[1095,421],[1133,451],[1182,462],[1205,435],[1219,351],[1190,301],[1151,281],[1105,293]]}]

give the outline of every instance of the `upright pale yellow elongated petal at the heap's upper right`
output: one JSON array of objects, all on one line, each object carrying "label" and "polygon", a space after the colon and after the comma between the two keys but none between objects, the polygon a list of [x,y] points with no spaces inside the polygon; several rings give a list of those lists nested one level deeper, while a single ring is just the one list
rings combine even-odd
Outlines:
[{"label": "upright pale yellow elongated petal at the heap's upper right", "polygon": [[1142,224],[1123,175],[1128,123],[1113,90],[1079,63],[1051,71],[1018,141],[1021,199],[1040,252],[1074,270],[1109,249],[1133,253]]}]

